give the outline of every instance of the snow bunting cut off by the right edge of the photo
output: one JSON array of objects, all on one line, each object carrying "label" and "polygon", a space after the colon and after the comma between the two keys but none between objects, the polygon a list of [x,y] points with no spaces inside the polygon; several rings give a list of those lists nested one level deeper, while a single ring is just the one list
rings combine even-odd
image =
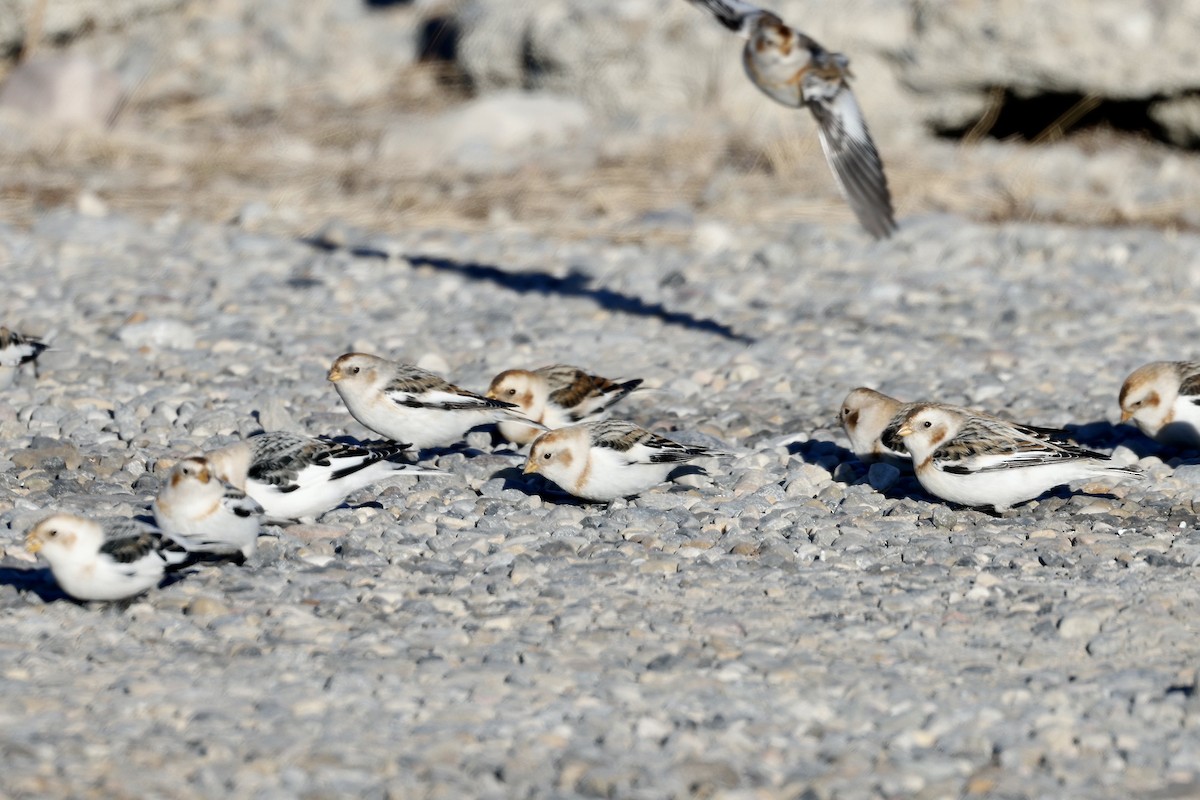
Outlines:
[{"label": "snow bunting cut off by the right edge of the photo", "polygon": [[1200,446],[1200,362],[1154,361],[1121,386],[1121,421],[1163,444]]}]

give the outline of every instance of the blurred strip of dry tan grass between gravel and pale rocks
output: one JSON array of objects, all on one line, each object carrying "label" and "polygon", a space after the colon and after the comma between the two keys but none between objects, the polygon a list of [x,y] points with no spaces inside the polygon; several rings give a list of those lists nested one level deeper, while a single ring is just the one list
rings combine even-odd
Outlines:
[{"label": "blurred strip of dry tan grass between gravel and pale rocks", "polygon": [[[396,109],[436,113],[468,92],[445,62],[406,67],[390,85],[383,101],[349,108],[314,106],[319,92],[298,85],[290,90],[296,102],[240,115],[193,96],[134,95],[110,131],[31,133],[0,143],[0,201],[17,224],[83,192],[146,218],[174,212],[228,222],[250,204],[265,204],[271,212],[258,224],[288,235],[310,235],[336,219],[382,233],[508,224],[557,237],[685,242],[688,227],[641,224],[643,217],[692,210],[730,224],[853,222],[808,119],[797,121],[794,133],[757,144],[728,126],[694,125],[599,157],[529,163],[514,174],[430,173],[376,157],[378,142]],[[1042,169],[1049,156],[1036,145],[1010,145],[997,158],[1001,145],[992,143],[992,156],[983,158],[976,149],[985,126],[986,118],[958,144],[928,139],[882,148],[901,217],[950,211],[988,221],[1192,225],[1194,197],[1122,204],[1111,191],[1067,188]],[[1045,139],[1058,133],[1048,131]],[[1072,142],[1084,151],[1127,152],[1133,162],[1150,162],[1151,174],[1165,157],[1162,145],[1116,134]]]}]

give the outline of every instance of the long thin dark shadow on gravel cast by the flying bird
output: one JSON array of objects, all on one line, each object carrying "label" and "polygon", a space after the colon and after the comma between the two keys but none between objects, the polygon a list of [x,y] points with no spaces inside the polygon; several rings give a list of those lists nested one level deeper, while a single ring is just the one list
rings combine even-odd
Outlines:
[{"label": "long thin dark shadow on gravel cast by the flying bird", "polygon": [[[301,239],[301,242],[317,249],[336,249],[320,239]],[[384,251],[367,246],[350,247],[352,255],[358,258],[390,257]],[[510,272],[492,264],[478,261],[456,261],[449,258],[432,255],[406,255],[404,259],[415,266],[428,266],[443,272],[452,272],[472,281],[486,281],[504,287],[518,294],[559,295],[563,297],[584,297],[607,311],[631,314],[634,317],[654,317],[667,325],[677,325],[689,330],[713,333],[734,342],[752,344],[754,338],[736,332],[728,325],[714,319],[696,317],[682,311],[668,311],[660,302],[647,302],[641,297],[628,295],[616,289],[593,285],[594,278],[577,270],[571,270],[565,277],[558,277],[542,271]]]}]

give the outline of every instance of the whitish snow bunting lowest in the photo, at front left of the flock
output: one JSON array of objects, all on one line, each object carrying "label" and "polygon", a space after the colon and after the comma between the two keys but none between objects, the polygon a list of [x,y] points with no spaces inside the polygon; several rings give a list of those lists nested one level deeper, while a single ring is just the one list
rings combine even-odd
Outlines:
[{"label": "whitish snow bunting lowest in the photo, at front left of the flock", "polygon": [[25,548],[49,561],[59,587],[76,600],[140,595],[190,558],[182,545],[133,519],[101,524],[70,513],[34,525]]}]

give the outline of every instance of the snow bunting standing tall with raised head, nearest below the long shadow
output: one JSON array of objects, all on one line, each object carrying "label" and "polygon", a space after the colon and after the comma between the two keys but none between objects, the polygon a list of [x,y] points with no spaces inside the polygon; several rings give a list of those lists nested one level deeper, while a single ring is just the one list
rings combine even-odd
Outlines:
[{"label": "snow bunting standing tall with raised head, nearest below the long shadow", "polygon": [[454,444],[475,426],[502,420],[545,431],[515,403],[460,389],[439,375],[364,353],[347,353],[329,368],[350,416],[382,437],[424,450]]}]

